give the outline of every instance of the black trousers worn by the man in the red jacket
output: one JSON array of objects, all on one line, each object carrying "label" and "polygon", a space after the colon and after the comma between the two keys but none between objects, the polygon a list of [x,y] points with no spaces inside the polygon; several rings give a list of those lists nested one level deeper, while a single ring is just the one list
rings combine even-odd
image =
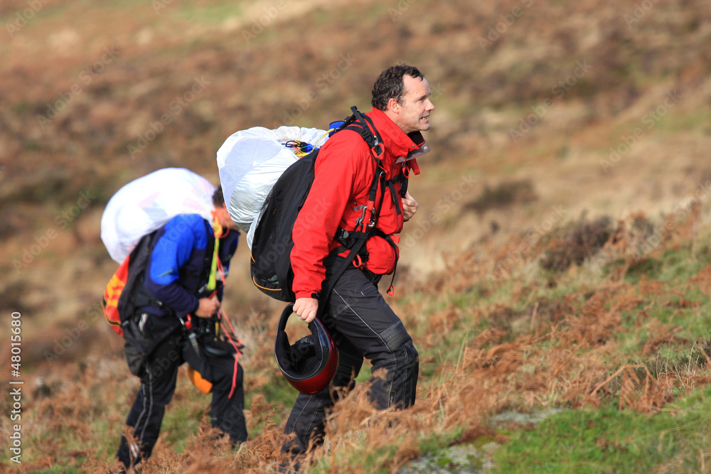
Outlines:
[{"label": "black trousers worn by the man in the red jacket", "polygon": [[[342,259],[337,260],[341,262]],[[333,264],[327,262],[328,269]],[[415,403],[419,361],[412,338],[402,321],[385,303],[378,287],[368,276],[349,266],[333,288],[321,321],[338,346],[340,362],[331,387],[314,395],[299,394],[284,433],[296,437],[282,451],[303,453],[323,442],[326,409],[333,406],[333,387],[353,389],[353,377],[363,365],[363,357],[373,365],[370,399],[379,409],[407,408]]]}]

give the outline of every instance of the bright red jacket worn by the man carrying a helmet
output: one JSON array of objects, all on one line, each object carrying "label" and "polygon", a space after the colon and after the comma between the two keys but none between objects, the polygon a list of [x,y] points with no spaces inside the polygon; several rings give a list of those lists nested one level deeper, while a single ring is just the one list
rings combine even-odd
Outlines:
[{"label": "bright red jacket worn by the man carrying a helmet", "polygon": [[[402,168],[407,168],[406,173],[411,170],[419,174],[415,157],[429,151],[422,134],[405,134],[385,112],[378,109],[366,115],[373,119],[375,129],[383,139],[385,151],[380,159],[385,178],[397,176]],[[356,220],[363,214],[362,206],[368,202],[376,168],[368,144],[356,131],[339,131],[321,147],[314,168],[314,183],[292,230],[292,289],[296,298],[314,298],[321,291],[326,277],[324,259],[341,245],[335,237],[336,232],[339,228],[355,229]],[[395,190],[402,210],[400,182],[395,183]],[[378,187],[376,205],[380,203],[380,194]],[[387,188],[382,202],[375,227],[385,235],[401,232],[403,216],[397,214]],[[371,236],[366,242],[366,249],[368,270],[375,274],[390,274],[395,270],[399,257],[397,249],[393,249],[383,237]],[[344,257],[346,254],[343,252]]]}]

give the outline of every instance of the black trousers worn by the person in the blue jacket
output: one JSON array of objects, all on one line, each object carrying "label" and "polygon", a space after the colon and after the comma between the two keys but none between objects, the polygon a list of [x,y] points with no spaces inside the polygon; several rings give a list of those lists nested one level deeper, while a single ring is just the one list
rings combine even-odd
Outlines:
[{"label": "black trousers worn by the person in the blue jacket", "polygon": [[178,367],[183,362],[188,362],[200,372],[203,379],[213,384],[210,408],[212,426],[228,433],[233,443],[247,440],[242,366],[237,365],[235,390],[230,398],[235,370],[234,357],[208,357],[204,351],[198,357],[183,331],[178,329],[151,352],[141,375],[141,388],[126,419],[127,426],[133,429],[139,443],[128,443],[126,437],[122,436],[117,453],[119,461],[126,467],[137,465],[142,459],[151,456],[161,431],[166,405],[176,389]]}]

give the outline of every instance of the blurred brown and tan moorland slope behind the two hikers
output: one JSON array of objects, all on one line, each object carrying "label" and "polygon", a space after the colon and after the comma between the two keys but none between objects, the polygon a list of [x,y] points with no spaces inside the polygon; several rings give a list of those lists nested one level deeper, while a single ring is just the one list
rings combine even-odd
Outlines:
[{"label": "blurred brown and tan moorland slope behind the two hikers", "polygon": [[[119,353],[97,306],[117,266],[99,236],[112,194],[169,166],[218,183],[230,134],[326,128],[370,109],[399,62],[437,107],[402,281],[550,221],[670,212],[711,177],[710,18],[702,0],[5,0],[0,312],[23,314],[28,365]],[[242,244],[237,321],[279,306],[248,262]],[[58,354],[77,321],[90,337]]]}]

